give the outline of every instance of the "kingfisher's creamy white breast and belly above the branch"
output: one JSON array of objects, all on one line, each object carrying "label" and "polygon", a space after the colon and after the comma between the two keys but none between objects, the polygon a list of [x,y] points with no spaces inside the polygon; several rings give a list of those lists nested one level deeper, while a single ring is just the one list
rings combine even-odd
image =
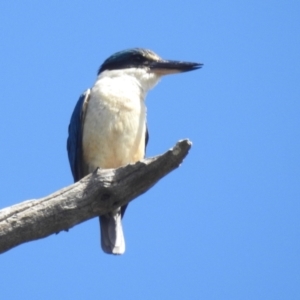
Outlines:
[{"label": "kingfisher's creamy white breast and belly above the branch", "polygon": [[91,89],[83,128],[89,172],[117,168],[144,157],[145,93],[131,76],[98,78]]}]

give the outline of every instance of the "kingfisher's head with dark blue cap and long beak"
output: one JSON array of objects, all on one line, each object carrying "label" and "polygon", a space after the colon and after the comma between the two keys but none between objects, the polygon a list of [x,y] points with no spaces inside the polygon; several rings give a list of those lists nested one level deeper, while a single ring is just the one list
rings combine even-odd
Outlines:
[{"label": "kingfisher's head with dark blue cap and long beak", "polygon": [[203,64],[175,60],[165,60],[151,50],[133,48],[111,55],[101,65],[98,75],[104,72],[113,73],[113,76],[122,74],[134,76],[147,91],[159,79],[168,74],[182,73],[197,70]]}]

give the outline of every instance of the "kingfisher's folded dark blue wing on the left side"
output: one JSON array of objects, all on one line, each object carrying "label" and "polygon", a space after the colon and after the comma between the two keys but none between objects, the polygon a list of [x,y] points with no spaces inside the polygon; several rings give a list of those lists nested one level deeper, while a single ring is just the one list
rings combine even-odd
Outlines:
[{"label": "kingfisher's folded dark blue wing on the left side", "polygon": [[82,129],[86,108],[90,96],[90,89],[86,90],[79,98],[69,124],[69,136],[67,140],[67,150],[69,163],[74,181],[84,177],[82,159]]}]

